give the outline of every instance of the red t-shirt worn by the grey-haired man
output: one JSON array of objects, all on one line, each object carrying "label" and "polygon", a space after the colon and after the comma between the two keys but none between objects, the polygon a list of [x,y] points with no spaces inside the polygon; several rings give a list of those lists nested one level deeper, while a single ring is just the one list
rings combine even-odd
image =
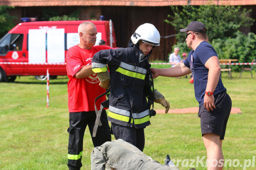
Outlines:
[{"label": "red t-shirt worn by the grey-haired man", "polygon": [[[68,74],[68,108],[69,112],[94,111],[95,98],[103,94],[106,90],[99,86],[97,73],[91,74],[84,79],[76,79],[73,76],[83,66],[91,65],[91,60],[96,52],[111,49],[109,46],[93,46],[89,50],[80,48],[78,45],[69,48],[67,58]],[[100,103],[105,101],[105,97],[97,100],[97,109]]]}]

